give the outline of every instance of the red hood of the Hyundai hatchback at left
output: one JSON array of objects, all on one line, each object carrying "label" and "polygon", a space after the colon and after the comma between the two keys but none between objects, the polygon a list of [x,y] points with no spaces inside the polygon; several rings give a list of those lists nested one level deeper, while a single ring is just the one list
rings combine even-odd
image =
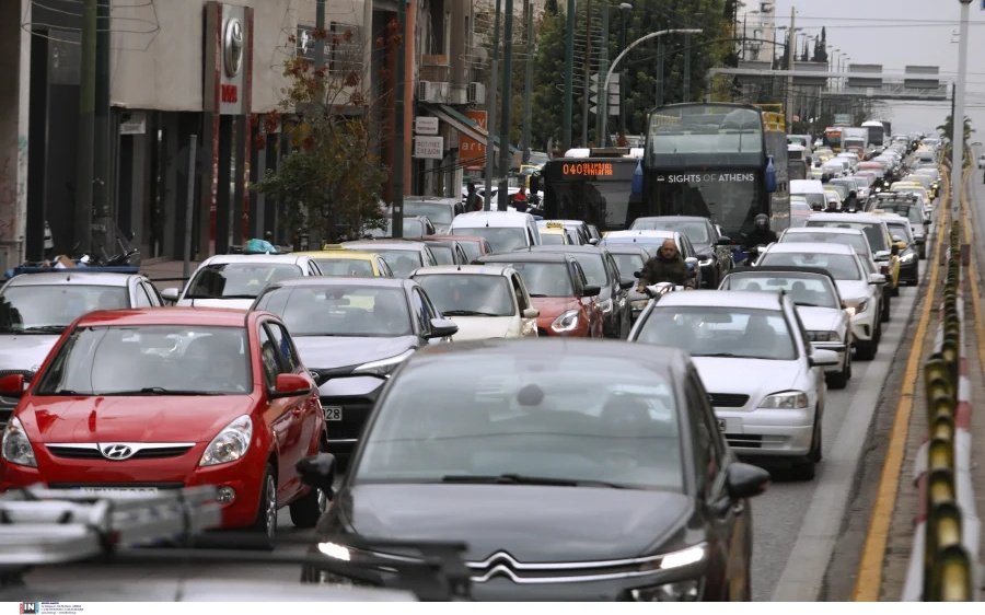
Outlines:
[{"label": "red hood of the Hyundai hatchback at left", "polygon": [[208,442],[248,414],[250,395],[31,397],[18,418],[36,442]]}]

